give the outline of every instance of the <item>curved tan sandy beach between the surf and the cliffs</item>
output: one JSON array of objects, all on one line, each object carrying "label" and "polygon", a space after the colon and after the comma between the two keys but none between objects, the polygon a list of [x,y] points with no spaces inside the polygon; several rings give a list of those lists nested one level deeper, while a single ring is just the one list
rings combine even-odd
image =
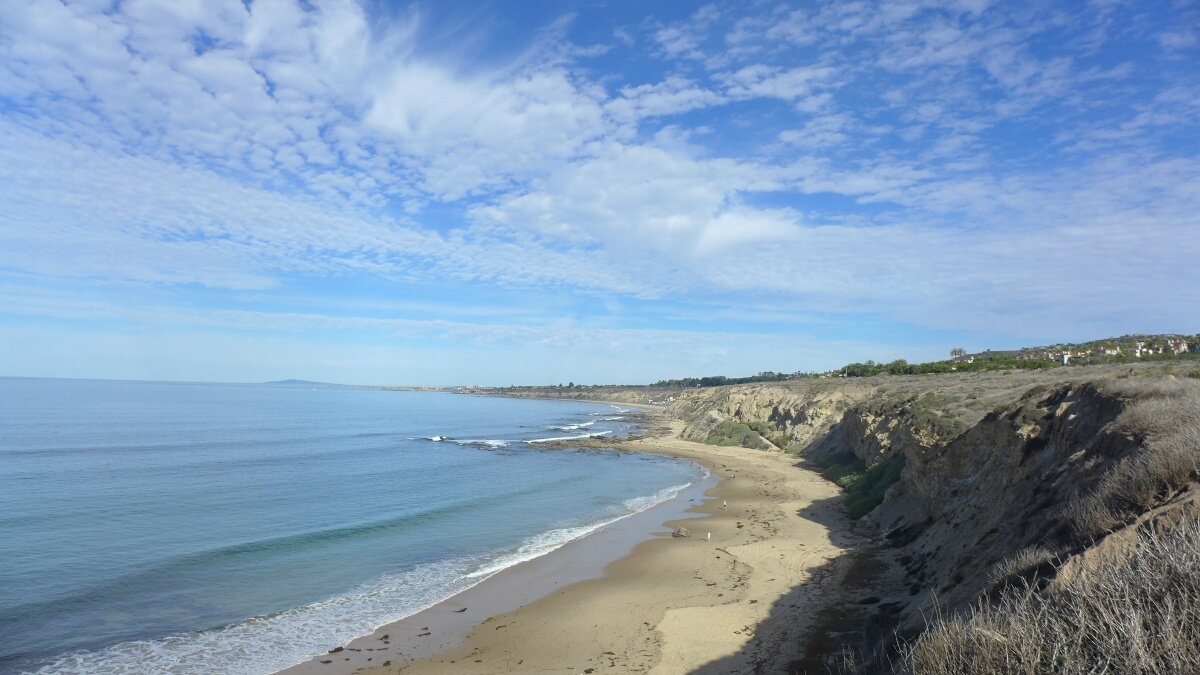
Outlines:
[{"label": "curved tan sandy beach between the surf and the cliffs", "polygon": [[[623,447],[709,467],[720,480],[703,497],[674,500],[673,515],[646,512],[656,522],[622,521],[284,673],[786,671],[823,581],[860,543],[840,491],[793,456],[678,431]],[[689,537],[670,534],[680,526]]]}]

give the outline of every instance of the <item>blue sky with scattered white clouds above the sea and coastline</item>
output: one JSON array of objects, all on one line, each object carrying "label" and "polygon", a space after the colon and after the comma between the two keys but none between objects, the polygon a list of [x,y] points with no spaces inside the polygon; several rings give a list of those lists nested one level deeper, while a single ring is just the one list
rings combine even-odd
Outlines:
[{"label": "blue sky with scattered white clouds above the sea and coastline", "polygon": [[1200,5],[0,0],[0,375],[1200,331]]}]

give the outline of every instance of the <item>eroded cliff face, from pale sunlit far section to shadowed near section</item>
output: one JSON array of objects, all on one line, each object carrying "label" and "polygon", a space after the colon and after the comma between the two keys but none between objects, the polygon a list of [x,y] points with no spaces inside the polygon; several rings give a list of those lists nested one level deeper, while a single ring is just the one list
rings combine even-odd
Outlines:
[{"label": "eroded cliff face, from pale sunlit far section to shadowed near section", "polygon": [[684,395],[671,412],[690,440],[725,419],[770,422],[802,456],[851,453],[871,466],[902,455],[899,483],[859,528],[904,558],[905,610],[932,593],[974,598],[1003,557],[1066,542],[1067,500],[1141,441],[1114,426],[1124,402],[1091,383],[1006,383],[1007,405],[956,416],[937,407],[962,402],[946,383],[919,384],[730,387]]}]

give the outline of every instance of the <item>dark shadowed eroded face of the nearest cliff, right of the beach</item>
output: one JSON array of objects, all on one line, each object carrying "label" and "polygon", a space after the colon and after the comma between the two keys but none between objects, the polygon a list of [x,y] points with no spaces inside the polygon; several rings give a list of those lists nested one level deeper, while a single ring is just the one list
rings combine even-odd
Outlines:
[{"label": "dark shadowed eroded face of the nearest cliff, right of the beach", "polygon": [[1021,549],[1072,546],[1067,502],[1141,442],[1115,424],[1124,406],[1094,384],[1062,384],[944,444],[905,448],[900,482],[864,518],[902,568],[905,629],[935,596],[958,608],[986,592],[995,566]]}]

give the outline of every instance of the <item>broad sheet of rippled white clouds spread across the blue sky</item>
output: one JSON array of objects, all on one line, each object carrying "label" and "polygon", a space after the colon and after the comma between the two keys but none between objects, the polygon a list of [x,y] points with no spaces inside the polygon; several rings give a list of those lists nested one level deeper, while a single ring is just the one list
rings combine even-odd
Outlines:
[{"label": "broad sheet of rippled white clouds spread across the blue sky", "polygon": [[980,329],[1151,317],[1195,299],[1171,280],[1200,252],[1178,142],[1200,95],[1128,95],[1140,64],[1090,60],[1106,34],[1033,48],[1060,13],[710,5],[642,24],[678,70],[607,77],[571,60],[604,49],[560,43],[463,64],[416,48],[419,16],[350,1],[22,0],[0,16],[0,264],[770,294]]}]

